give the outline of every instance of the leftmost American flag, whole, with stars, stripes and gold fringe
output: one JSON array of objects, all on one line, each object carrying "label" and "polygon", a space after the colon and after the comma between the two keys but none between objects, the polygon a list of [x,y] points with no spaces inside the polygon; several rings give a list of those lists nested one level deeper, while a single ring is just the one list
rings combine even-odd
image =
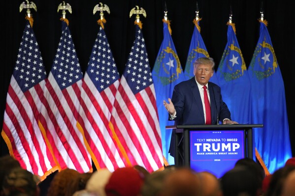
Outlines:
[{"label": "leftmost American flag, whole, with stars, stripes and gold fringe", "polygon": [[37,123],[45,78],[43,60],[28,21],[8,87],[1,135],[10,155],[41,179],[58,169]]}]

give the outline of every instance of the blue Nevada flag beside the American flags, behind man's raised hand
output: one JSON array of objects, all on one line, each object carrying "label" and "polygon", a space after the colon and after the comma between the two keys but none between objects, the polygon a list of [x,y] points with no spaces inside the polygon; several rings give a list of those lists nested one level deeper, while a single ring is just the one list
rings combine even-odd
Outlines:
[{"label": "blue Nevada flag beside the American flags, behind man's raised hand", "polygon": [[168,28],[168,24],[164,22],[164,39],[152,71],[152,76],[156,90],[163,155],[171,165],[174,164],[174,158],[168,154],[168,151],[172,130],[166,130],[165,126],[173,125],[174,121],[168,121],[168,112],[163,105],[163,100],[167,101],[168,98],[172,97],[174,86],[184,81],[185,76]]}]

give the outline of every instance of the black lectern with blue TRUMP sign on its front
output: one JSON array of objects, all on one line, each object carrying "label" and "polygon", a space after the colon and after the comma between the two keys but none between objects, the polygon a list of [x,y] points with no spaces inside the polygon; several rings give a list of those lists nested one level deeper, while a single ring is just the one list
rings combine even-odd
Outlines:
[{"label": "black lectern with blue TRUMP sign on its front", "polygon": [[[262,124],[174,125],[175,165],[221,177],[237,160],[253,158],[252,129]],[[173,142],[173,141],[171,141]]]}]

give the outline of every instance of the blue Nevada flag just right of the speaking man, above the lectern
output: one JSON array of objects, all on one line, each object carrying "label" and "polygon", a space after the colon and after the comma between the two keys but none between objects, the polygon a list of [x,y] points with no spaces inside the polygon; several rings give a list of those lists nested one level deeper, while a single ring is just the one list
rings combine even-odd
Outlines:
[{"label": "blue Nevada flag just right of the speaking man, above the lectern", "polygon": [[241,124],[252,123],[251,84],[239,47],[234,24],[228,23],[228,43],[217,69],[217,78],[231,119]]}]

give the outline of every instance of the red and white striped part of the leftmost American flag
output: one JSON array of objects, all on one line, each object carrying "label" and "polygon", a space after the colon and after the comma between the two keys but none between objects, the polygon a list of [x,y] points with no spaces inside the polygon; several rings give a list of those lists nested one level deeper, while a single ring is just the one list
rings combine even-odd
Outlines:
[{"label": "red and white striped part of the leftmost American flag", "polygon": [[12,76],[1,133],[11,156],[41,178],[57,169],[37,123],[44,86],[43,80],[23,93]]}]

